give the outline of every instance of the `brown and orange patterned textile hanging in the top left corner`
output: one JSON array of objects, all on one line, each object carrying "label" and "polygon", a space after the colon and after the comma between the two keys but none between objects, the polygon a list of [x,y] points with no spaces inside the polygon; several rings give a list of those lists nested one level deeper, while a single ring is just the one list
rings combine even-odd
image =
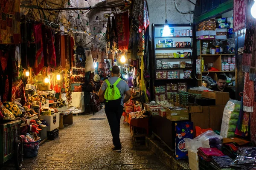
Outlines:
[{"label": "brown and orange patterned textile hanging in the top left corner", "polygon": [[0,44],[20,44],[20,0],[0,0]]}]

